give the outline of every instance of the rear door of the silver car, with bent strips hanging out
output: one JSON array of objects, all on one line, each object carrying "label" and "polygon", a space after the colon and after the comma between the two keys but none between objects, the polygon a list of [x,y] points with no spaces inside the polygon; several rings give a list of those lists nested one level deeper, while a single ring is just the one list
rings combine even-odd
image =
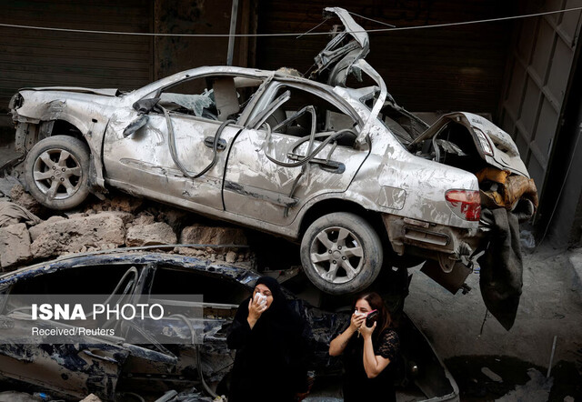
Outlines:
[{"label": "rear door of the silver car, with bent strips hanging out", "polygon": [[223,196],[227,212],[287,226],[310,199],[346,191],[369,147],[356,145],[362,122],[331,92],[274,81],[264,96],[232,146]]}]

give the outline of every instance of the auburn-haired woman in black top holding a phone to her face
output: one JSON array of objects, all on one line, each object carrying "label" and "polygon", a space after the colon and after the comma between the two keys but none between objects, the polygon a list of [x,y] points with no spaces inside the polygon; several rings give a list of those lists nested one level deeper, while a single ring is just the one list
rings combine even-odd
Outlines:
[{"label": "auburn-haired woman in black top holding a phone to her face", "polygon": [[[371,327],[366,316],[377,310]],[[390,313],[377,293],[356,298],[349,327],[329,344],[331,356],[344,355],[344,401],[396,401],[394,374],[400,341]]]}]

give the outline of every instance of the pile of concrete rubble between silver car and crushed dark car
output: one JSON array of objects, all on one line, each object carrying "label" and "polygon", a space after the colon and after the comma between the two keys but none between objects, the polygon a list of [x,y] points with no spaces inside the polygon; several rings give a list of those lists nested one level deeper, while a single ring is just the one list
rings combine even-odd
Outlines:
[{"label": "pile of concrete rubble between silver car and crushed dark car", "polygon": [[73,211],[49,211],[14,176],[0,182],[3,271],[55,256],[139,246],[228,263],[250,265],[255,259],[243,229],[206,224],[186,211],[125,195],[95,199]]}]

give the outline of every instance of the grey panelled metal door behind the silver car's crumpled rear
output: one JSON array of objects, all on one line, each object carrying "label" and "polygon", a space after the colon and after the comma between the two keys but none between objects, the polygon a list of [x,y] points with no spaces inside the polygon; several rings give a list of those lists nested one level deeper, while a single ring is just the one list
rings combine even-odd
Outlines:
[{"label": "grey panelled metal door behind the silver car's crumpled rear", "polygon": [[[580,6],[547,1],[545,10]],[[540,196],[571,81],[581,12],[527,18],[517,25],[501,106],[502,127],[519,148]]]}]

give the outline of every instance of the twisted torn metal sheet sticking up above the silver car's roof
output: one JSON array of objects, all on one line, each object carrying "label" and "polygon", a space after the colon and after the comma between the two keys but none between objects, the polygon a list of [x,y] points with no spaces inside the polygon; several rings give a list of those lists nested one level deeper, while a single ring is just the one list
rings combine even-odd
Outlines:
[{"label": "twisted torn metal sheet sticking up above the silver car's roof", "polygon": [[336,15],[344,25],[344,31],[332,32],[333,38],[326,47],[316,55],[316,69],[310,78],[327,85],[346,85],[351,66],[366,57],[370,51],[367,33],[349,13],[340,7],[326,7],[324,17]]}]

